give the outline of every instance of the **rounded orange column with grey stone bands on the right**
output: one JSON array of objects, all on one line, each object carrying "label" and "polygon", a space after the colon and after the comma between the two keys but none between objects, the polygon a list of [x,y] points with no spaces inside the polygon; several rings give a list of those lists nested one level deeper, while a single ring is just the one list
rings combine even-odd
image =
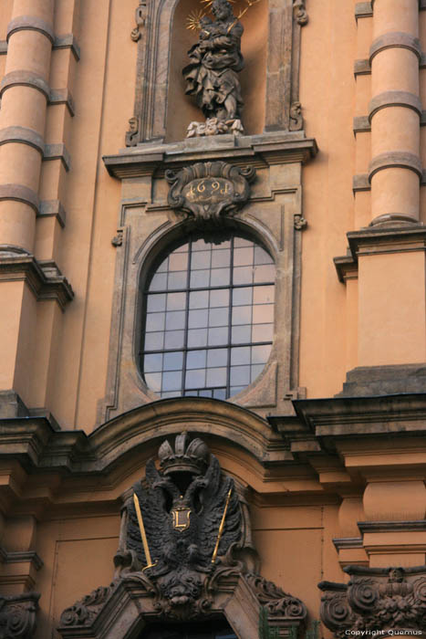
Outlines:
[{"label": "rounded orange column with grey stone bands on the right", "polygon": [[375,0],[370,48],[372,224],[416,223],[421,180],[418,0]]}]

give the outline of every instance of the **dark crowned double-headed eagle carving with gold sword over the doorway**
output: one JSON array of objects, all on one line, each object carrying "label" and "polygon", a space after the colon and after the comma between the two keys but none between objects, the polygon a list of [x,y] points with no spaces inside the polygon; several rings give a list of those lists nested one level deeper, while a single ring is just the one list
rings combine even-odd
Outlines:
[{"label": "dark crowned double-headed eagle carving with gold sword over the doorway", "polygon": [[126,639],[150,620],[220,614],[233,625],[238,606],[240,620],[252,618],[247,636],[258,634],[261,610],[283,636],[302,628],[304,603],[256,573],[241,489],[223,476],[207,445],[182,433],[174,448],[168,441],[161,445],[159,458],[159,469],[148,462],[145,479],[125,498],[114,581],[62,613],[62,637],[111,639],[119,627]]}]

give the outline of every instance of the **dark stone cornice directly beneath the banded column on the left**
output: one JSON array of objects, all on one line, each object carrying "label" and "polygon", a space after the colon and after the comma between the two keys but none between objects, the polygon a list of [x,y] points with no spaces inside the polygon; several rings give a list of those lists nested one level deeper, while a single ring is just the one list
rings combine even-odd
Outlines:
[{"label": "dark stone cornice directly beneath the banded column on the left", "polygon": [[56,299],[63,310],[74,293],[65,278],[52,261],[37,261],[34,256],[1,256],[0,282],[25,281],[36,299]]}]

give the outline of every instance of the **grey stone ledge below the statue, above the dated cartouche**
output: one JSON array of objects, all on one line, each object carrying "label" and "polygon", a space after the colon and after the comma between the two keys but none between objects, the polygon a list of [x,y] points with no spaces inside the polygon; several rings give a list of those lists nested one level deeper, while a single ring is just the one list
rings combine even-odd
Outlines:
[{"label": "grey stone ledge below the statue, above the dated cartouche", "polygon": [[166,168],[211,160],[264,168],[271,164],[307,162],[317,154],[317,142],[300,133],[281,131],[234,137],[217,135],[170,144],[140,144],[117,155],[105,155],[109,175],[119,179],[152,175]]}]

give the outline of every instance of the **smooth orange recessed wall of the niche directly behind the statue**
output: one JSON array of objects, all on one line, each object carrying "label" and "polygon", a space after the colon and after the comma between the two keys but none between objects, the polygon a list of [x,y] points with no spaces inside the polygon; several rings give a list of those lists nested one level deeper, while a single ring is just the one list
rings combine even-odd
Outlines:
[{"label": "smooth orange recessed wall of the niche directly behind the statue", "polygon": [[[247,6],[244,0],[233,5],[237,16]],[[170,79],[168,83],[165,141],[180,141],[192,120],[203,121],[203,112],[195,100],[185,95],[182,68],[188,62],[188,50],[198,40],[198,31],[187,28],[190,14],[203,9],[200,0],[179,0],[171,26]],[[208,14],[207,14],[208,15]],[[241,18],[244,26],[241,47],[244,69],[239,74],[244,100],[243,124],[246,135],[262,133],[265,128],[266,58],[268,37],[268,0],[259,0]]]}]

